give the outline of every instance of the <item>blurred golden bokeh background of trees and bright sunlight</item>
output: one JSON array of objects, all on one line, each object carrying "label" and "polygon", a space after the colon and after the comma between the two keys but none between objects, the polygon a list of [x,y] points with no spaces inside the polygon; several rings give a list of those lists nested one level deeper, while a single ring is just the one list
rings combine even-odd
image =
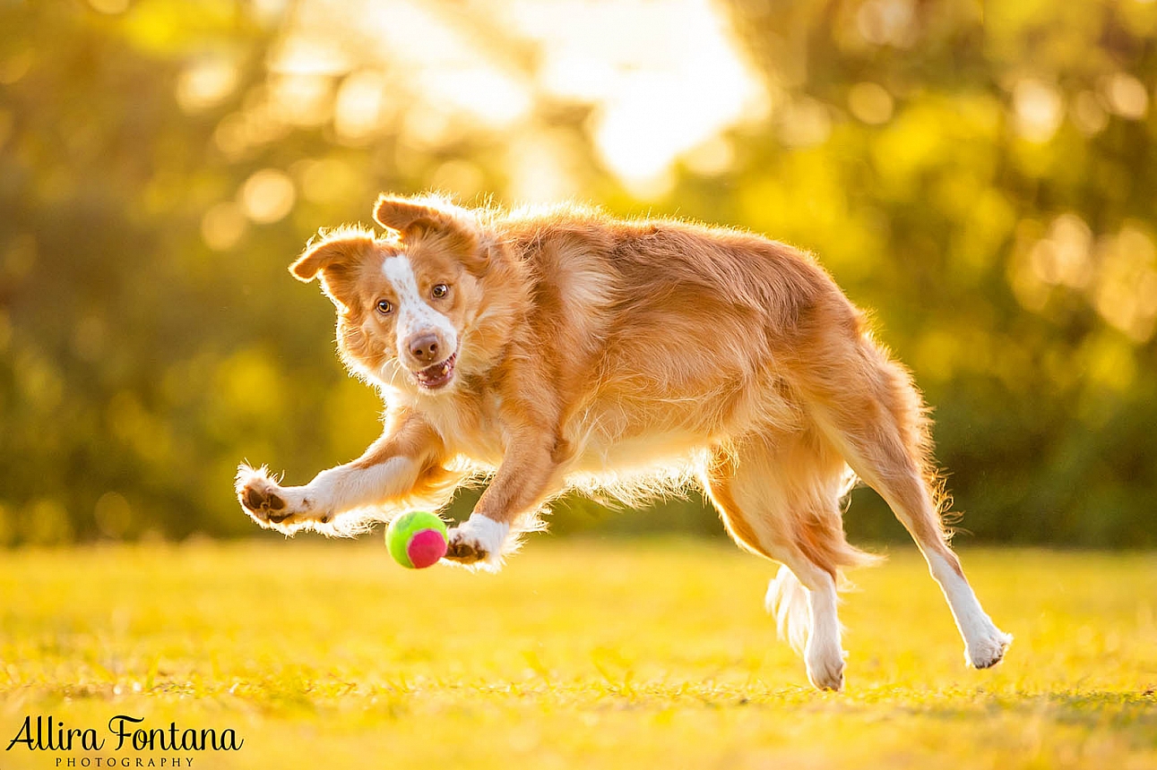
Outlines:
[{"label": "blurred golden bokeh background of trees and bright sunlight", "polygon": [[[360,453],[381,407],[286,266],[436,188],[813,251],[935,406],[970,540],[1157,545],[1151,0],[0,0],[0,543],[257,534],[238,460]],[[847,519],[904,536],[868,490]],[[721,533],[695,498],[553,523]]]}]

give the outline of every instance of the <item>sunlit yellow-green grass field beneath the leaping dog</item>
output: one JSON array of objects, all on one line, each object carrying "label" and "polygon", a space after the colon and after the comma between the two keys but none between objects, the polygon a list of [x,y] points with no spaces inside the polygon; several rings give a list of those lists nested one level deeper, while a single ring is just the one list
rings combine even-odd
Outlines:
[{"label": "sunlit yellow-green grass field beneath the leaping dog", "polygon": [[[964,560],[1004,664],[964,667],[893,548],[853,576],[824,694],[762,613],[772,565],[725,543],[539,538],[496,576],[405,571],[376,538],[5,553],[0,770],[1157,768],[1157,556]],[[2,750],[37,715],[105,745]],[[118,752],[117,715],[244,745]]]}]

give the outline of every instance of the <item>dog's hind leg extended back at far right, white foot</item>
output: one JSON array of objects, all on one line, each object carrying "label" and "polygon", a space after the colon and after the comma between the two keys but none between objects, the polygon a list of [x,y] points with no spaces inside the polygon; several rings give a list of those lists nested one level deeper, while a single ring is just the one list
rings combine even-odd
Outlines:
[{"label": "dog's hind leg extended back at far right, white foot", "polygon": [[[1012,637],[985,613],[948,545],[944,498],[931,461],[929,420],[920,392],[899,364],[867,338],[804,384],[812,417],[912,534],[939,584],[975,668],[1000,662]],[[813,372],[815,375],[816,372]],[[824,377],[823,373],[838,375]]]}]

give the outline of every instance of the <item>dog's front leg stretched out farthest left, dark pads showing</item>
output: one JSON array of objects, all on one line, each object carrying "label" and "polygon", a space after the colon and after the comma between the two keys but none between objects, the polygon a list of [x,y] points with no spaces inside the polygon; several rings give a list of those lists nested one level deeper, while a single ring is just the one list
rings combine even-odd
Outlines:
[{"label": "dog's front leg stretched out farthest left, dark pads showing", "polygon": [[323,471],[303,487],[282,487],[266,468],[237,469],[237,499],[263,527],[293,533],[317,528],[358,509],[384,505],[410,495],[422,474],[440,468],[442,443],[417,415],[403,415],[366,452]]}]

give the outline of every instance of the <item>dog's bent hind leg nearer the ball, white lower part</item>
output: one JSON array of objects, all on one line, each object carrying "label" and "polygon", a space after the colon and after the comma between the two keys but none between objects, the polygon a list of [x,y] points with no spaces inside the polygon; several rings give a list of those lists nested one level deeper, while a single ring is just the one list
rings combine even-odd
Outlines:
[{"label": "dog's bent hind leg nearer the ball, white lower part", "polygon": [[736,542],[783,565],[767,609],[803,653],[808,679],[840,689],[839,570],[874,561],[843,536],[840,501],[852,481],[843,460],[810,430],[753,436],[715,450],[702,480]]}]

